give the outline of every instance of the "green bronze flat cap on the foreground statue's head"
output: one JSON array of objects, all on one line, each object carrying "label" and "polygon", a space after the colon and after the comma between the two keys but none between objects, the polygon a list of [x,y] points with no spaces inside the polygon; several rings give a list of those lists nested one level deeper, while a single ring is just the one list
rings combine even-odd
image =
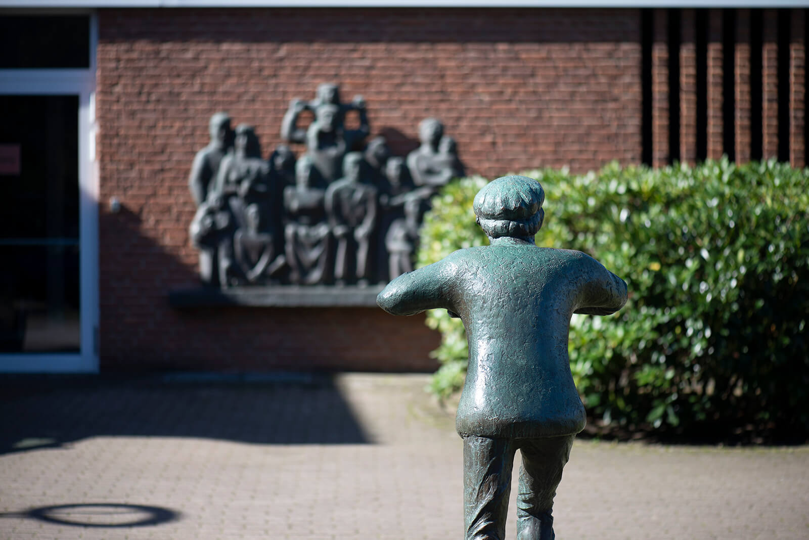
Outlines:
[{"label": "green bronze flat cap on the foreground statue's head", "polygon": [[545,192],[527,176],[501,176],[477,192],[472,209],[487,220],[524,221],[542,208]]}]

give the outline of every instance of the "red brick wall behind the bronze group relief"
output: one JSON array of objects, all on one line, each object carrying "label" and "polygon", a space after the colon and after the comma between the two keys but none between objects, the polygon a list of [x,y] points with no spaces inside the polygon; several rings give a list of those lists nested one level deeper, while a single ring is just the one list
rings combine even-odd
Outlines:
[{"label": "red brick wall behind the bronze group relief", "polygon": [[337,82],[397,154],[438,116],[470,173],[640,161],[635,10],[100,10],[99,27],[102,369],[434,367],[421,316],[168,306],[197,282],[188,169],[218,110],[268,154],[290,99]]}]

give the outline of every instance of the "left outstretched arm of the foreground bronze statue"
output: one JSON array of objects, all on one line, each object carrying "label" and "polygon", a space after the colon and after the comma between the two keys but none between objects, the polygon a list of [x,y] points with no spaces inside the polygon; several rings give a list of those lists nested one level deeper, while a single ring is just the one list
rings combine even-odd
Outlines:
[{"label": "left outstretched arm of the foreground bronze statue", "polygon": [[388,283],[376,303],[394,315],[414,315],[443,308],[455,311],[451,302],[451,268],[446,259],[413,272],[406,272]]}]

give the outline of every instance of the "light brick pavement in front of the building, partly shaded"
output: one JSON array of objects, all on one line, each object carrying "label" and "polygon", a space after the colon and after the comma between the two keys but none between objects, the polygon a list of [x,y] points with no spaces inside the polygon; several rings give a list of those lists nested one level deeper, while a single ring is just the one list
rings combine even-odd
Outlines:
[{"label": "light brick pavement in front of the building, partly shaded", "polygon": [[[0,539],[462,538],[425,384],[0,379]],[[809,447],[577,441],[555,514],[557,538],[798,539],[807,508]],[[514,538],[514,492],[510,515]]]}]

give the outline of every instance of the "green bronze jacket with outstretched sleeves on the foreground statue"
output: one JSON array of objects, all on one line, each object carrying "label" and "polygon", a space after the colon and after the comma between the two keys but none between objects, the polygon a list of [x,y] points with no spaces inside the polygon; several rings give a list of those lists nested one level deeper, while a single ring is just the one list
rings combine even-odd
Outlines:
[{"label": "green bronze jacket with outstretched sleeves on the foreground statue", "polygon": [[377,302],[392,314],[443,308],[464,322],[462,436],[556,437],[586,421],[570,373],[570,317],[612,314],[626,294],[621,278],[580,251],[497,238],[397,277]]}]

